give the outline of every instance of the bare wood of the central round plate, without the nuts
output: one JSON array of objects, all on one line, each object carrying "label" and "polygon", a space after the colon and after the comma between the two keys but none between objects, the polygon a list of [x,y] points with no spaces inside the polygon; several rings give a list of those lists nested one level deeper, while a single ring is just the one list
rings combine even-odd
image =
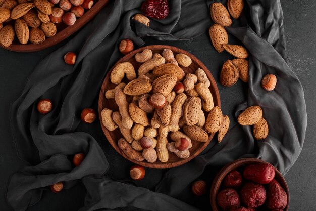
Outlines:
[{"label": "bare wood of the central round plate, without the nuts", "polygon": [[[210,87],[209,90],[213,95],[213,100],[214,100],[214,105],[217,106],[221,106],[221,102],[220,102],[220,94],[216,85],[216,82],[212,76],[212,74],[210,74],[209,70],[207,69],[207,67],[200,61],[198,60],[195,56],[193,56],[192,54],[190,54],[187,51],[184,51],[182,49],[178,49],[176,47],[172,47],[172,46],[166,46],[166,45],[153,45],[153,46],[146,46],[140,49],[137,49],[135,51],[130,52],[129,54],[127,54],[126,56],[124,56],[123,58],[121,58],[116,64],[121,63],[121,62],[130,62],[131,64],[134,65],[135,70],[138,69],[138,67],[141,65],[141,63],[138,63],[135,60],[135,54],[142,52],[144,49],[150,49],[152,50],[153,53],[162,53],[164,49],[170,49],[174,52],[174,54],[177,53],[183,53],[188,55],[191,59],[192,59],[192,64],[189,67],[182,67],[182,69],[184,70],[185,73],[194,73],[195,70],[199,67],[201,69],[203,69],[210,81]],[[115,65],[116,65],[115,64]],[[114,66],[115,66],[114,65]],[[114,67],[113,66],[113,67]],[[208,143],[210,142],[210,140],[212,140],[214,134],[210,135],[208,138],[208,141],[205,143],[202,142],[196,142],[196,141],[192,141],[192,147],[189,149],[190,150],[190,157],[187,159],[181,159],[179,157],[177,157],[174,153],[169,152],[169,160],[165,163],[160,162],[159,160],[157,160],[154,163],[149,163],[147,161],[142,161],[142,162],[138,162],[136,160],[130,159],[128,156],[126,156],[124,154],[124,152],[118,147],[117,142],[120,138],[122,138],[123,136],[121,135],[121,132],[119,129],[116,129],[113,132],[108,131],[102,124],[102,120],[101,120],[101,111],[104,107],[107,107],[113,111],[118,111],[118,106],[115,102],[114,99],[107,99],[104,94],[106,93],[107,90],[109,89],[113,89],[115,88],[116,85],[114,85],[113,83],[111,83],[110,81],[110,75],[111,72],[113,70],[112,69],[108,72],[106,78],[103,81],[103,85],[101,87],[101,91],[100,91],[100,95],[99,95],[99,104],[98,104],[98,111],[99,111],[99,118],[100,118],[100,122],[101,122],[101,127],[102,130],[104,132],[104,134],[106,135],[107,139],[109,140],[110,144],[115,148],[115,150],[120,153],[123,157],[125,157],[126,159],[145,166],[145,167],[150,167],[150,168],[171,168],[171,167],[175,167],[178,165],[182,165],[186,162],[188,162],[189,160],[193,159],[195,156],[197,156],[203,149],[205,149],[205,147],[208,145]],[[128,82],[127,80],[125,80],[124,82]],[[207,115],[207,114],[206,114]],[[207,117],[207,116],[206,116]],[[168,137],[169,138],[169,137]]]}]

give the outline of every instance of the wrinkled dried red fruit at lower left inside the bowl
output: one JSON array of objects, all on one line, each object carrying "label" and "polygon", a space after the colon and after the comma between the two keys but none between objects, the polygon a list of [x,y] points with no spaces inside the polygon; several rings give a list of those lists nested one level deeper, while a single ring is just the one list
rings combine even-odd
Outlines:
[{"label": "wrinkled dried red fruit at lower left inside the bowl", "polygon": [[238,193],[232,188],[226,188],[217,195],[217,204],[223,209],[240,206]]}]

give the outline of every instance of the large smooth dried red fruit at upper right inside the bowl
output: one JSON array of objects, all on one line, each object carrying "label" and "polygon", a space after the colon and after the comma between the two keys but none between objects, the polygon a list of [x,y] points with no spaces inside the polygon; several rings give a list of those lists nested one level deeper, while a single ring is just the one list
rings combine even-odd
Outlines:
[{"label": "large smooth dried red fruit at upper right inside the bowl", "polygon": [[274,179],[275,171],[268,163],[251,164],[245,167],[243,176],[259,184],[268,184]]}]

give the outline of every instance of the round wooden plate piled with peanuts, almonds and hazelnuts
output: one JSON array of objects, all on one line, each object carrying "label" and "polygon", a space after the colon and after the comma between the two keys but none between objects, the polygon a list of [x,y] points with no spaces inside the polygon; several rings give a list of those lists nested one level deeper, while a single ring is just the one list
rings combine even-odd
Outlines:
[{"label": "round wooden plate piled with peanuts, almonds and hazelnuts", "polygon": [[171,168],[196,157],[217,131],[222,140],[228,126],[220,106],[215,79],[200,60],[176,47],[153,45],[112,67],[98,112],[104,134],[123,157]]}]

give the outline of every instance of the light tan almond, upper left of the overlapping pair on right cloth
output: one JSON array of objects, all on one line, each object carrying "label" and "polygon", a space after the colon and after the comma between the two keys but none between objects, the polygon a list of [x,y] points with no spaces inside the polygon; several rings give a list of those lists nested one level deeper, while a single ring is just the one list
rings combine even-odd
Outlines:
[{"label": "light tan almond, upper left of the overlapping pair on right cloth", "polygon": [[238,123],[241,125],[253,125],[262,117],[262,109],[258,105],[250,106],[238,116]]}]

